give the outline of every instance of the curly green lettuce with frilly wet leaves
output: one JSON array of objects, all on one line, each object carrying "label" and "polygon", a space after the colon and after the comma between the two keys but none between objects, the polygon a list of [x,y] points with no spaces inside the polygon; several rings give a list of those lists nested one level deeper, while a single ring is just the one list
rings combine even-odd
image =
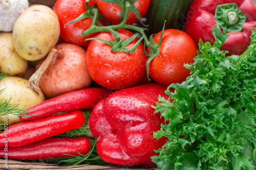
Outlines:
[{"label": "curly green lettuce with frilly wet leaves", "polygon": [[171,103],[159,97],[156,112],[169,120],[154,133],[168,137],[152,157],[158,169],[256,168],[256,29],[241,55],[220,51],[228,35],[215,26],[214,45],[200,41],[191,76],[171,84]]}]

